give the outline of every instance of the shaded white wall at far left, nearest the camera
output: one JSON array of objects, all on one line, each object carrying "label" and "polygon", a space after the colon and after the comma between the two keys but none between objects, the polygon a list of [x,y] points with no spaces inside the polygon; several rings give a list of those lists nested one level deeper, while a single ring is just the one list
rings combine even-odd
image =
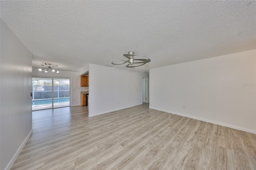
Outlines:
[{"label": "shaded white wall at far left, nearest the camera", "polygon": [[32,133],[32,53],[0,19],[0,169],[10,169]]}]

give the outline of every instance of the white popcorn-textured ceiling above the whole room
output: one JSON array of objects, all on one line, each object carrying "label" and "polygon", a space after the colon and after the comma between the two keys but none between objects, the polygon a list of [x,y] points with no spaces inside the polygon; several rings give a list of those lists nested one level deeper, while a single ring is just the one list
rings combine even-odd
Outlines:
[{"label": "white popcorn-textured ceiling above the whole room", "polygon": [[[79,71],[134,51],[135,71],[256,48],[255,1],[13,1],[1,18],[43,63]],[[125,65],[113,67],[124,68]]]}]

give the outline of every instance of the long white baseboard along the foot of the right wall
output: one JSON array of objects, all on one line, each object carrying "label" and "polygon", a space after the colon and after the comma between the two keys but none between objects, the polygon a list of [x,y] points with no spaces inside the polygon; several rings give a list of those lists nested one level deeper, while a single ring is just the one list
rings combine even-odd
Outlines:
[{"label": "long white baseboard along the foot of the right wall", "polygon": [[164,109],[159,109],[159,108],[155,108],[155,107],[149,107],[150,109],[155,109],[155,110],[158,110],[158,111],[163,111],[163,112],[167,112],[167,113],[172,113],[174,115],[180,115],[180,116],[184,116],[184,117],[188,117],[188,118],[192,118],[192,119],[196,119],[196,120],[199,120],[199,121],[204,121],[204,122],[208,122],[208,123],[213,123],[213,124],[216,124],[216,125],[220,125],[220,126],[224,126],[224,127],[229,127],[229,128],[234,128],[236,130],[242,130],[244,132],[249,132],[249,133],[253,133],[253,134],[256,134],[256,130],[251,130],[251,129],[248,129],[248,128],[242,128],[242,127],[237,127],[237,126],[234,126],[234,125],[228,125],[228,124],[225,124],[225,123],[220,123],[220,122],[216,122],[216,121],[210,121],[208,119],[202,119],[202,118],[199,118],[199,117],[194,117],[194,116],[190,116],[190,115],[184,115],[182,113],[176,113],[176,112],[172,112],[172,111],[166,111]]}]

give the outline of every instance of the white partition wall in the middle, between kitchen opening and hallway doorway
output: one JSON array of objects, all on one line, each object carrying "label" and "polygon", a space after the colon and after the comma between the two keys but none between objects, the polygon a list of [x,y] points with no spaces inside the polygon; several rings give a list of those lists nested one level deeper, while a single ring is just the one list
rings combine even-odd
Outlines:
[{"label": "white partition wall in the middle, between kitchen opening and hallway doorway", "polygon": [[142,77],[148,74],[89,65],[89,117],[142,104]]}]

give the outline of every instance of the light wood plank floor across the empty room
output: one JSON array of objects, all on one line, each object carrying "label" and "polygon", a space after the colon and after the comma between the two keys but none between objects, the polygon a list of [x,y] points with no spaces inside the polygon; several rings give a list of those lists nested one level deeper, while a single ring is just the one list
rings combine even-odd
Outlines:
[{"label": "light wood plank floor across the empty room", "polygon": [[256,170],[256,134],[140,105],[96,117],[87,107],[32,113],[12,170]]}]

